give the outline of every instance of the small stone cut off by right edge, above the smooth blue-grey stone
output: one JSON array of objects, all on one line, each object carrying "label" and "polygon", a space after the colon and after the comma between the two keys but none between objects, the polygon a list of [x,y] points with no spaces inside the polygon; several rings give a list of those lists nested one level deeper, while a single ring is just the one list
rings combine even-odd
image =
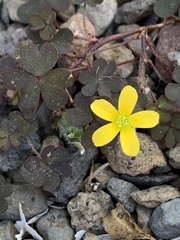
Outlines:
[{"label": "small stone cut off by right edge, above the smooth blue-grey stone", "polygon": [[175,146],[166,152],[169,164],[175,168],[180,169],[180,146]]}]

